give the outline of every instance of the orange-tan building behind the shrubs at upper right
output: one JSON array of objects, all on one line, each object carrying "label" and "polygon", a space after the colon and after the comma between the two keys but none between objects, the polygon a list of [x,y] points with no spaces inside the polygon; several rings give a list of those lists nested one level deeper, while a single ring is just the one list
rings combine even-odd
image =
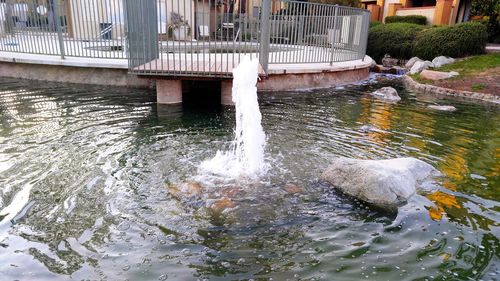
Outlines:
[{"label": "orange-tan building behind the shrubs at upper right", "polygon": [[454,25],[468,21],[472,0],[362,0],[372,21],[388,16],[421,15],[430,25]]}]

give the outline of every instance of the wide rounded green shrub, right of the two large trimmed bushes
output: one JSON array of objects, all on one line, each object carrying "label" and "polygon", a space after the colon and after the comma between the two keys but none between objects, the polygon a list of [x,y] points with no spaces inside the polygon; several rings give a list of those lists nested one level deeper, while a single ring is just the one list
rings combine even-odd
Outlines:
[{"label": "wide rounded green shrub, right of the two large trimmed bushes", "polygon": [[484,53],[487,41],[486,27],[478,22],[435,27],[417,35],[413,54],[427,60],[437,56],[461,58]]}]

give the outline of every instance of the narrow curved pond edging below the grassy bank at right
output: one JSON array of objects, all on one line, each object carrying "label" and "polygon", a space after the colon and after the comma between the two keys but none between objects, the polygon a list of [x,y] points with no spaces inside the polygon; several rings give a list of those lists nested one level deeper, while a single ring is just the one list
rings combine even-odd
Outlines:
[{"label": "narrow curved pond edging below the grassy bank at right", "polygon": [[408,75],[404,76],[404,84],[409,90],[422,94],[433,94],[433,95],[463,98],[467,100],[483,101],[500,106],[500,96],[484,94],[484,93],[476,93],[470,91],[453,90],[429,84],[421,84],[413,80],[413,78],[411,78]]}]

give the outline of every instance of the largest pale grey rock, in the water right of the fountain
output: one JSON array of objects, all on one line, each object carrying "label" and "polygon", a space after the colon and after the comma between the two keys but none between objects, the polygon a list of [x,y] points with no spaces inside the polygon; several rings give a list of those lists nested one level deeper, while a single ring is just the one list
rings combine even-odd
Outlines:
[{"label": "largest pale grey rock, in the water right of the fountain", "polygon": [[440,173],[415,158],[336,158],[321,178],[342,192],[384,209],[395,209],[425,180]]}]

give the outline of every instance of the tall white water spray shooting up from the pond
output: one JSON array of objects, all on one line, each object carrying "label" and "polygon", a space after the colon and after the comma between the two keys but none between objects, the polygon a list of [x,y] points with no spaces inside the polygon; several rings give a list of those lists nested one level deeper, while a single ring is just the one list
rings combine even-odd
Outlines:
[{"label": "tall white water spray shooting up from the pond", "polygon": [[230,178],[254,177],[266,170],[266,135],[257,101],[259,61],[244,57],[233,70],[232,99],[236,109],[235,137],[230,151],[217,151],[200,165],[202,172]]}]

